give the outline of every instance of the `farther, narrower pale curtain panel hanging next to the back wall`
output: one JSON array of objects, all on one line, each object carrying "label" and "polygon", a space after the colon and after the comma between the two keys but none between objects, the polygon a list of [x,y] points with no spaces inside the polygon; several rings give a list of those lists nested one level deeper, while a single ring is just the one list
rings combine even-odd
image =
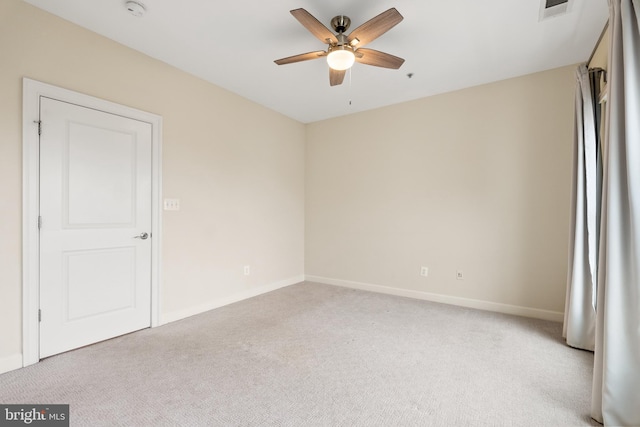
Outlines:
[{"label": "farther, narrower pale curtain panel hanging next to the back wall", "polygon": [[576,70],[573,198],[563,336],[572,347],[593,350],[600,219],[600,72]]}]

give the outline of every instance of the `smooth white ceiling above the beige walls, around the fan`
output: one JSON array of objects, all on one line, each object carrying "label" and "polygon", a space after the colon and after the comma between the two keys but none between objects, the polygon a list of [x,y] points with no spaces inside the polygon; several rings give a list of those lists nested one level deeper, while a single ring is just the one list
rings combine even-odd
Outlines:
[{"label": "smooth white ceiling above the beige walls, around the fan", "polygon": [[[541,0],[140,0],[141,18],[125,0],[25,1],[303,123],[586,61],[608,17],[606,0],[543,21]],[[300,7],[351,30],[395,7],[404,21],[367,47],[406,62],[355,64],[335,87],[323,58],[275,65],[325,48],[289,13]]]}]

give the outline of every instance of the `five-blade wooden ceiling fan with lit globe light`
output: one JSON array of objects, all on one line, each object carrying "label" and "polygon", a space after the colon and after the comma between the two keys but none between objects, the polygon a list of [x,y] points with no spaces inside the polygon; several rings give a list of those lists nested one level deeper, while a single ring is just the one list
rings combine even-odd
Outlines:
[{"label": "five-blade wooden ceiling fan with lit globe light", "polygon": [[291,14],[311,34],[321,42],[328,44],[329,47],[326,51],[318,50],[277,59],[274,62],[278,65],[292,64],[326,56],[329,63],[329,84],[336,86],[342,84],[345,73],[356,61],[361,64],[395,70],[404,63],[404,59],[397,56],[363,47],[398,25],[404,19],[394,7],[360,25],[348,36],[344,34],[351,25],[351,19],[348,16],[338,15],[331,20],[331,27],[337,33],[334,34],[304,9],[294,9]]}]

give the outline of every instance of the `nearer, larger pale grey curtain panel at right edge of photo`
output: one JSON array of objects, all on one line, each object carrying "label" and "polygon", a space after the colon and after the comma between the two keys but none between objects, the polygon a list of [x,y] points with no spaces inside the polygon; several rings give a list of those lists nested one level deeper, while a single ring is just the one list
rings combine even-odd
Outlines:
[{"label": "nearer, larger pale grey curtain panel at right edge of photo", "polygon": [[640,0],[609,0],[592,417],[640,426]]}]

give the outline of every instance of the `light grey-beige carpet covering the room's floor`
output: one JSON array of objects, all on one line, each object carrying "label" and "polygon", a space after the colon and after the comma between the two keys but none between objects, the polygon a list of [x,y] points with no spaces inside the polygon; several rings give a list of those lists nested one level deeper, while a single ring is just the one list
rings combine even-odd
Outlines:
[{"label": "light grey-beige carpet covering the room's floor", "polygon": [[562,325],[303,283],[0,375],[74,426],[589,426]]}]

